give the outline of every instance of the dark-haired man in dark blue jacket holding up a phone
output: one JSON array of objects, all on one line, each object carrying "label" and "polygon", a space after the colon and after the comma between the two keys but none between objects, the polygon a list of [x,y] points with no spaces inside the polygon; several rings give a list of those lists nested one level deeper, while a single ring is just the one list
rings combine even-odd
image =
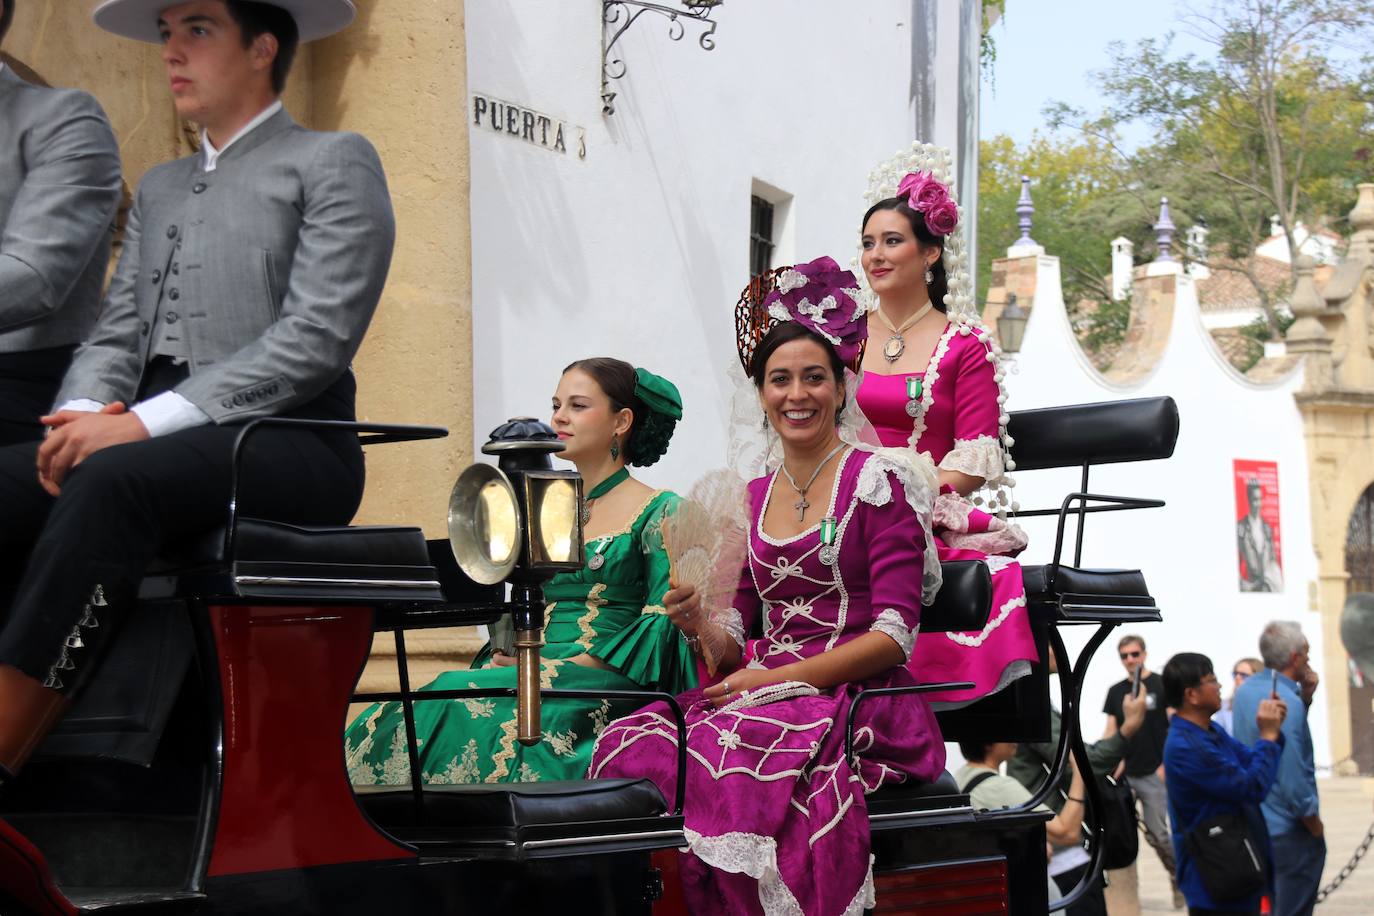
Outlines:
[{"label": "dark-haired man in dark blue jacket holding up a phone", "polygon": [[[1221,684],[1212,661],[1197,652],[1180,652],[1164,666],[1164,698],[1175,710],[1164,742],[1164,772],[1169,775],[1176,878],[1189,901],[1189,913],[1259,913],[1260,891],[1239,901],[1212,898],[1194,865],[1187,836],[1209,817],[1242,814],[1250,836],[1274,861],[1259,805],[1278,779],[1286,709],[1281,700],[1261,700],[1253,722],[1259,740],[1246,747],[1213,725],[1212,715],[1221,709]],[[1239,721],[1241,710],[1237,709],[1235,724]]]}]

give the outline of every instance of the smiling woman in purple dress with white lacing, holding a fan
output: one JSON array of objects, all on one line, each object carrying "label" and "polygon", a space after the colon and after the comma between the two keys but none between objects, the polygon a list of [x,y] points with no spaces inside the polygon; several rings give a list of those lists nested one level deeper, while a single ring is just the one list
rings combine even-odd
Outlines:
[{"label": "smiling woman in purple dress with white lacing, holding a fan", "polygon": [[[746,357],[782,463],[749,485],[749,558],[734,607],[702,628],[695,593],[665,596],[675,621],[690,614],[680,623],[690,637],[724,645],[714,652],[723,680],[680,696],[682,873],[692,912],[857,916],[872,906],[864,795],[944,768],[934,714],[918,695],[860,706],[856,759],[844,753],[860,689],[915,684],[905,662],[922,600],[938,588],[937,564],[911,575],[923,569],[933,475],[837,433],[844,363],[866,335],[856,286],[830,258],[782,272],[767,301],[778,323]],[[758,615],[764,637],[746,658]],[[672,802],[676,743],[666,710],[650,706],[606,728],[591,777],[649,776]]]}]

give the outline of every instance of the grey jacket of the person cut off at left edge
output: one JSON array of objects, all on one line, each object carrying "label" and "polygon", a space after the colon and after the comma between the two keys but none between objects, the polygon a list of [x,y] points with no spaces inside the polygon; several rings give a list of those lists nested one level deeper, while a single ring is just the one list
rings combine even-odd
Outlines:
[{"label": "grey jacket of the person cut off at left edge", "polygon": [[0,67],[0,353],[89,332],[120,188],[120,147],[99,103]]}]

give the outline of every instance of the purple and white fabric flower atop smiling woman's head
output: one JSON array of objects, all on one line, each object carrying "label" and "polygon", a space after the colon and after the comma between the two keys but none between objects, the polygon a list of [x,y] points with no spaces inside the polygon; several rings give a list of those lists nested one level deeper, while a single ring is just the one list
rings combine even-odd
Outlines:
[{"label": "purple and white fabric flower atop smiling woman's head", "polygon": [[859,280],[829,257],[779,271],[764,308],[768,317],[797,321],[830,341],[845,364],[859,358],[868,336]]}]

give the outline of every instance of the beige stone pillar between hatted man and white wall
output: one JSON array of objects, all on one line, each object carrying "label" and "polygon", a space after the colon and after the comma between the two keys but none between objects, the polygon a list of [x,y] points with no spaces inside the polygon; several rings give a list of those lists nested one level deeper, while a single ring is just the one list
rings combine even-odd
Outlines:
[{"label": "beige stone pillar between hatted man and white wall", "polygon": [[[386,293],[354,363],[359,417],[445,426],[449,438],[368,450],[360,523],[445,533],[448,492],[473,459],[473,286],[467,60],[463,4],[372,0],[357,22],[315,45],[315,126],[356,130],[378,148],[396,209]],[[419,630],[407,641],[423,684],[458,666],[475,630]],[[393,683],[390,636],[361,688]]]}]

